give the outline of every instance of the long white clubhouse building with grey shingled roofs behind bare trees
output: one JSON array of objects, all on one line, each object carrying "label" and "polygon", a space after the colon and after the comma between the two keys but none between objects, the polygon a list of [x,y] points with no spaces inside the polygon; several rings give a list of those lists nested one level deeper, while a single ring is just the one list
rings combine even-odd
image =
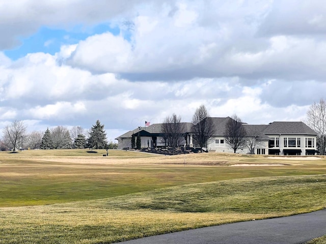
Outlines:
[{"label": "long white clubhouse building with grey shingled roofs behind bare trees", "polygon": [[[207,150],[213,152],[233,152],[225,140],[225,130],[230,117],[210,118],[214,126],[214,133],[207,143]],[[184,124],[184,140],[181,145],[196,146],[193,140],[192,124]],[[255,140],[255,154],[261,155],[315,155],[317,153],[317,133],[303,122],[276,121],[268,125],[248,125],[243,123],[247,138]],[[140,133],[142,147],[165,146],[162,124],[153,124],[148,127],[139,127],[118,138],[119,148],[131,147],[132,134]],[[249,154],[250,149],[244,145],[237,153]]]}]

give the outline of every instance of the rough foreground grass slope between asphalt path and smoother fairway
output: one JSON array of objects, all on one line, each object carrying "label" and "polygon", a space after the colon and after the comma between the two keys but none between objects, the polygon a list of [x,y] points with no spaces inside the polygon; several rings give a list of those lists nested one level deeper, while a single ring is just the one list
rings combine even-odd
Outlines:
[{"label": "rough foreground grass slope between asphalt path and smoother fairway", "polygon": [[[318,180],[318,181],[317,181]],[[326,175],[222,180],[114,198],[0,208],[0,243],[112,243],[318,210]]]}]

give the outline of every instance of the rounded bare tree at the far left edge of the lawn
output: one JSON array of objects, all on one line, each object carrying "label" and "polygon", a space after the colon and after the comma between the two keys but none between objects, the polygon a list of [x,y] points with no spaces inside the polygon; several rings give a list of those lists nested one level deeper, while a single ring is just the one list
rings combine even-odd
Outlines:
[{"label": "rounded bare tree at the far left edge of the lawn", "polygon": [[23,121],[14,120],[10,126],[8,125],[3,129],[3,140],[8,147],[15,151],[19,145],[20,139],[22,140],[22,137],[25,135],[25,132],[26,127]]}]

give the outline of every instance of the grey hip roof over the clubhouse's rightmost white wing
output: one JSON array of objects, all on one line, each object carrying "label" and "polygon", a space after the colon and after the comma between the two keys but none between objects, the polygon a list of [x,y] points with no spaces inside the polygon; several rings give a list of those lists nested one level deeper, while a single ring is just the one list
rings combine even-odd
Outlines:
[{"label": "grey hip roof over the clubhouse's rightmost white wing", "polygon": [[301,134],[317,135],[317,133],[303,122],[281,122],[270,123],[264,130],[264,134]]}]

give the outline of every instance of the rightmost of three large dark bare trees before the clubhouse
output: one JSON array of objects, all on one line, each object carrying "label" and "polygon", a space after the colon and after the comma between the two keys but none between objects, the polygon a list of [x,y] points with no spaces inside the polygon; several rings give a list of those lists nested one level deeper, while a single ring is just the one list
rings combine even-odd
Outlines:
[{"label": "rightmost of three large dark bare trees before the clubhouse", "polygon": [[241,119],[234,114],[226,123],[225,129],[225,141],[236,153],[238,148],[246,145],[246,130],[242,126]]}]

